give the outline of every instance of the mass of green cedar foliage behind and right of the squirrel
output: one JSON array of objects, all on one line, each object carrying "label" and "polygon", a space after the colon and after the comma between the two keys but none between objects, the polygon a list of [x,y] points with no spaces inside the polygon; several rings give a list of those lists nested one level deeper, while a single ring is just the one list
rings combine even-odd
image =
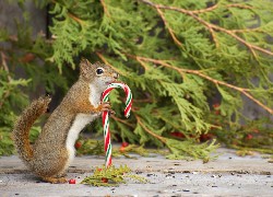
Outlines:
[{"label": "mass of green cedar foliage behind and right of the squirrel", "polygon": [[[214,140],[199,143],[207,132],[230,147],[271,148],[268,121],[254,124],[241,109],[242,97],[248,97],[273,113],[272,1],[35,2],[49,8],[51,38],[38,35],[35,40],[26,39],[28,26],[19,25],[17,40],[11,40],[4,31],[0,39],[12,43],[12,50],[34,55],[34,60],[21,65],[27,79],[35,82],[33,86],[40,82],[49,93],[56,85],[68,89],[73,81],[69,80],[71,68],[78,68],[82,56],[114,67],[134,97],[131,117],[123,120],[124,94],[110,94],[117,113],[110,123],[114,137],[167,147],[171,159],[207,161],[217,147]],[[4,53],[14,59],[8,63],[17,63],[19,57]],[[7,107],[8,112],[13,109],[13,105]],[[11,125],[1,123],[0,127]],[[246,142],[247,135],[257,129],[257,137]],[[102,134],[100,127],[98,130]],[[179,137],[174,136],[177,132]]]}]

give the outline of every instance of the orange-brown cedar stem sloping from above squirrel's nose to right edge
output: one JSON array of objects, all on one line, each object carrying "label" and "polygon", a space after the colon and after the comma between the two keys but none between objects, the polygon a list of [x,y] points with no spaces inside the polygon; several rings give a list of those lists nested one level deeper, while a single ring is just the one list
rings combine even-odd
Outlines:
[{"label": "orange-brown cedar stem sloping from above squirrel's nose to right edge", "polygon": [[[132,55],[130,55],[129,57],[133,57]],[[176,70],[178,71],[181,76],[182,73],[192,73],[192,74],[195,74],[195,76],[199,76],[203,79],[206,79],[211,82],[213,82],[214,84],[221,84],[221,85],[224,85],[224,86],[227,86],[229,89],[233,89],[233,90],[236,90],[240,93],[242,93],[244,95],[246,95],[247,97],[249,97],[251,101],[253,101],[256,104],[258,104],[259,106],[261,106],[262,108],[264,108],[266,112],[269,112],[270,114],[273,114],[273,109],[268,107],[266,105],[264,105],[263,103],[261,103],[259,100],[254,99],[250,93],[249,93],[249,89],[244,89],[244,88],[239,88],[239,86],[236,86],[236,85],[233,85],[233,84],[229,84],[227,82],[224,82],[224,81],[219,81],[219,80],[216,80],[216,79],[213,79],[211,78],[210,76],[206,76],[204,74],[201,70],[190,70],[190,69],[181,69],[181,68],[177,68],[177,67],[173,67],[171,65],[168,65],[167,62],[165,61],[162,61],[162,60],[158,60],[158,59],[152,59],[152,58],[145,58],[145,57],[138,57],[139,59],[142,59],[144,61],[150,61],[150,62],[153,62],[153,63],[156,63],[156,65],[161,65],[161,66],[164,66],[164,67],[167,67],[167,68],[170,68],[173,70]]]}]

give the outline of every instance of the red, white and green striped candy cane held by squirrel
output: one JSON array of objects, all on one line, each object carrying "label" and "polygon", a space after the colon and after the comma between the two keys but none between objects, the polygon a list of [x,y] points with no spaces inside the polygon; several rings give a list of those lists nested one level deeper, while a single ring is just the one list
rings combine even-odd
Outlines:
[{"label": "red, white and green striped candy cane held by squirrel", "polygon": [[[107,89],[102,94],[102,102],[107,102],[109,99],[109,93],[112,89],[123,89],[126,92],[126,109],[124,116],[128,118],[130,116],[132,107],[132,93],[129,86],[124,83],[115,82],[107,86]],[[103,127],[104,127],[104,150],[105,150],[105,166],[111,165],[111,141],[109,131],[109,113],[103,112]]]}]

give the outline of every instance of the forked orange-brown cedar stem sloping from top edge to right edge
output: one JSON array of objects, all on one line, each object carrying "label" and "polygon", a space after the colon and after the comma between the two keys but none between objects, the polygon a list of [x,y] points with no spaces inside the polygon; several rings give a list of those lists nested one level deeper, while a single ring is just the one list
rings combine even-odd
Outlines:
[{"label": "forked orange-brown cedar stem sloping from top edge to right edge", "polygon": [[[223,33],[234,37],[235,39],[237,39],[238,42],[240,42],[241,44],[247,46],[249,48],[249,50],[252,53],[252,55],[254,56],[254,58],[257,58],[257,54],[256,54],[254,50],[259,50],[261,53],[273,56],[272,51],[248,43],[247,40],[242,39],[241,37],[237,36],[235,33],[233,33],[232,30],[227,30],[227,28],[224,28],[224,27],[221,27],[221,26],[217,26],[215,24],[206,22],[205,20],[200,18],[197,13],[194,13],[194,12],[192,12],[190,10],[186,10],[186,9],[177,8],[177,7],[168,7],[168,5],[163,5],[163,4],[155,4],[155,3],[153,3],[153,2],[151,2],[149,0],[139,0],[139,1],[142,1],[142,2],[153,7],[155,9],[171,10],[171,11],[180,12],[180,13],[183,13],[183,14],[187,14],[187,15],[193,18],[194,20],[197,20],[198,22],[203,24],[212,33],[212,37],[213,37],[214,42],[215,42],[214,31],[219,31],[219,32],[223,32]],[[247,7],[247,5],[244,7],[244,5],[239,5],[239,4],[232,4],[232,7],[242,8],[242,9],[252,9],[252,7]],[[217,46],[216,43],[215,43],[215,45]]]}]

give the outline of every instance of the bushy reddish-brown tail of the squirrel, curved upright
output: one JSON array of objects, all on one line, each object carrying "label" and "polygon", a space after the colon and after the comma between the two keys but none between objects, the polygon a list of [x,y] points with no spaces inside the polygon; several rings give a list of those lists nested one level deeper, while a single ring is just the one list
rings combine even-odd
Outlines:
[{"label": "bushy reddish-brown tail of the squirrel, curved upright", "polygon": [[32,104],[24,109],[19,117],[13,129],[14,142],[21,159],[28,163],[33,158],[33,148],[29,143],[29,130],[34,121],[44,114],[51,99],[49,96],[41,96],[32,102]]}]

